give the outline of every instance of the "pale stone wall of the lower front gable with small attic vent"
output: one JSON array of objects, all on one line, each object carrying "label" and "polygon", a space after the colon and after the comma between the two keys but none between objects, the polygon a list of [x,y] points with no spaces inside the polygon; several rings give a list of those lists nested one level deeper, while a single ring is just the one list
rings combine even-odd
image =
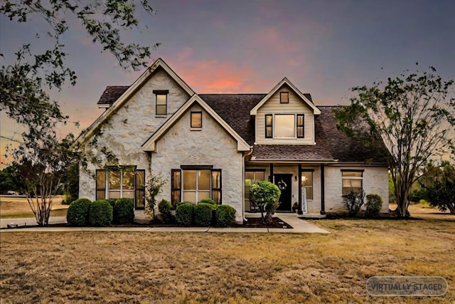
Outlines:
[{"label": "pale stone wall of the lower front gable with small attic vent", "polygon": [[[201,129],[191,129],[191,111],[202,111]],[[199,105],[193,105],[156,142],[151,156],[153,172],[162,172],[167,184],[158,200],[171,200],[171,169],[182,164],[208,164],[222,172],[222,203],[235,208],[235,220],[242,221],[242,152],[237,142]]]}]

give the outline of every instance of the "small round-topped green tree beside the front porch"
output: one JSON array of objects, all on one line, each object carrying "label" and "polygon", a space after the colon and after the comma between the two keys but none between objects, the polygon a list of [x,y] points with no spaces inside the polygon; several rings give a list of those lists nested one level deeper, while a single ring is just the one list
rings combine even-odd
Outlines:
[{"label": "small round-topped green tree beside the front porch", "polygon": [[[264,206],[264,208],[261,209],[264,224],[269,225],[272,223],[272,216],[279,206],[278,200],[281,194],[282,192],[279,190],[277,185],[272,184],[271,182],[255,182],[251,185],[250,200],[253,204]],[[262,210],[266,211],[265,216]]]}]

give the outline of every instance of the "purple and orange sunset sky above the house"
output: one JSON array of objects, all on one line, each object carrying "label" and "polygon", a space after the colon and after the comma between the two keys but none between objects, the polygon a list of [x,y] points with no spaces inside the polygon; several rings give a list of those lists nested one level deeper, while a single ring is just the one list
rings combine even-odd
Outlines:
[{"label": "purple and orange sunset sky above the house", "polygon": [[[455,79],[455,1],[149,1],[156,15],[141,14],[141,31],[127,41],[161,43],[163,58],[196,93],[268,93],[287,77],[316,105],[347,104],[350,90],[407,68],[433,65]],[[102,110],[107,85],[131,85],[144,71],[126,72],[100,53],[77,23],[63,37],[78,83],[51,95],[82,130]],[[23,43],[43,50],[45,24],[11,23],[0,16],[0,64],[14,61]],[[50,46],[45,46],[50,47]],[[150,63],[151,63],[150,62]],[[21,129],[1,114],[1,136]],[[65,127],[78,134],[80,130]],[[9,142],[1,140],[1,154]],[[3,155],[2,155],[3,157]]]}]

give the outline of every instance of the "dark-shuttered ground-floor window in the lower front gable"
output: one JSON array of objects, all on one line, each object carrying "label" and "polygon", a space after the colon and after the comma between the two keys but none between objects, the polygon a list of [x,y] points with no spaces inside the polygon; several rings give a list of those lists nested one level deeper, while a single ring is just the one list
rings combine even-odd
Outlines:
[{"label": "dark-shuttered ground-floor window in the lower front gable", "polygon": [[174,207],[179,201],[196,204],[202,199],[213,199],[221,204],[221,169],[182,167],[182,170],[173,169],[171,172],[171,203]]}]

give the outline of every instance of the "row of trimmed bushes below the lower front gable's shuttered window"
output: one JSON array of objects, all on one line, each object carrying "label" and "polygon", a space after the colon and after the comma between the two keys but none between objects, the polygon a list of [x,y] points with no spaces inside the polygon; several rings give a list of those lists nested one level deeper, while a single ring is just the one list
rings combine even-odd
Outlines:
[{"label": "row of trimmed bushes below the lower front gable's shuttered window", "polygon": [[[162,207],[166,205],[164,214],[171,213],[170,203],[161,201],[160,204],[162,204]],[[161,213],[161,216],[162,221],[169,219],[167,215],[163,216],[163,213]],[[193,205],[184,201],[177,204],[175,221],[180,226],[226,227],[235,221],[235,209],[229,205],[217,205],[205,202]]]}]

